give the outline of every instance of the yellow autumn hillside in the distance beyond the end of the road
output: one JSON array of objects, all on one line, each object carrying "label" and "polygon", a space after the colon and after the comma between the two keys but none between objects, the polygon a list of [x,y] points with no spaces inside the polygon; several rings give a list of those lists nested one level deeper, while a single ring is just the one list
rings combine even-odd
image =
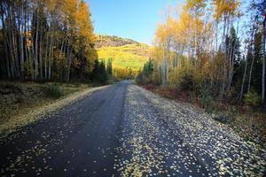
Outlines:
[{"label": "yellow autumn hillside in the distance beyond the end of the road", "polygon": [[98,58],[113,58],[114,69],[131,67],[133,71],[143,67],[149,58],[150,50],[145,43],[110,35],[98,35],[96,48]]}]

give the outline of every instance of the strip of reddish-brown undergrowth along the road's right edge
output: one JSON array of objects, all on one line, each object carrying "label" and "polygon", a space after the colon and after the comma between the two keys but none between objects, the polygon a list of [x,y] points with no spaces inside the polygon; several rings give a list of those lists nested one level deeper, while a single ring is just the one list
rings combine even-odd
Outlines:
[{"label": "strip of reddish-brown undergrowth along the road's right edge", "polygon": [[253,106],[215,102],[210,96],[196,96],[193,92],[179,91],[173,87],[142,85],[155,94],[192,104],[200,112],[207,112],[212,119],[228,125],[247,142],[266,149],[266,112]]}]

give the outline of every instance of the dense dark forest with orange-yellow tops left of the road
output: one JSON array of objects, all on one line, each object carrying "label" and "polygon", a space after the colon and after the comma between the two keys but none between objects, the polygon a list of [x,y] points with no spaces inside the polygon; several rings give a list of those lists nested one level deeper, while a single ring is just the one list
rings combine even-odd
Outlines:
[{"label": "dense dark forest with orange-yellow tops left of the road", "polygon": [[70,81],[106,77],[106,65],[98,61],[94,47],[90,8],[84,1],[4,0],[0,5],[0,78]]}]

